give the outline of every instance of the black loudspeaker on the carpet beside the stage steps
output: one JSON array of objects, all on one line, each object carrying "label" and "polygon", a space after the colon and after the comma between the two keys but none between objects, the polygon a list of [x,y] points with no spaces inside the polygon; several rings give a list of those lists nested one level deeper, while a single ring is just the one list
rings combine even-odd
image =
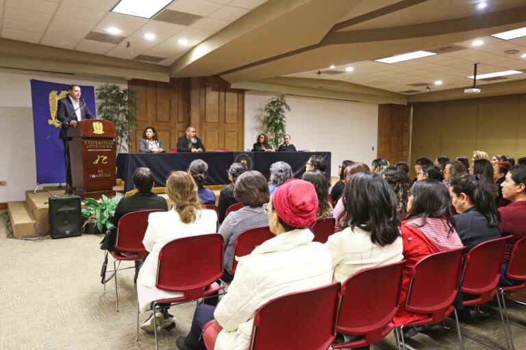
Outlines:
[{"label": "black loudspeaker on the carpet beside the stage steps", "polygon": [[75,237],[82,234],[79,196],[49,197],[49,234],[51,238]]}]

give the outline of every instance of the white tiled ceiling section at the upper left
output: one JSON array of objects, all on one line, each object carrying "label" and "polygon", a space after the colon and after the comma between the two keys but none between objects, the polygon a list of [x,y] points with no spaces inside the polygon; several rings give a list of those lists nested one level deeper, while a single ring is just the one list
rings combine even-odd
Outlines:
[{"label": "white tiled ceiling section at the upper left", "polygon": [[[164,57],[170,66],[186,51],[257,8],[266,0],[174,0],[166,9],[203,16],[190,26],[110,12],[118,0],[0,0],[0,37],[133,59]],[[90,31],[121,30],[120,44],[86,40]],[[145,39],[146,33],[155,40]],[[188,45],[177,40],[186,38]],[[127,42],[130,47],[127,47]]]}]

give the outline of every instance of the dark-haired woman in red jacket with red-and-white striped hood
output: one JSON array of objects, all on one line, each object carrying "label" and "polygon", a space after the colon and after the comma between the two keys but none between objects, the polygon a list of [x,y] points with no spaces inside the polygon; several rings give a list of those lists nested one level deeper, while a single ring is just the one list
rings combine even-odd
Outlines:
[{"label": "dark-haired woman in red jacket with red-and-white striped hood", "polygon": [[[429,254],[447,252],[463,246],[455,231],[450,206],[449,193],[437,180],[417,181],[411,187],[407,219],[400,226],[403,256],[407,262],[403,271],[400,308],[395,316],[397,325],[427,317],[427,314],[408,312],[403,307],[408,294],[411,271],[416,262]],[[413,336],[416,332],[417,329],[411,327],[405,332],[405,336]]]}]

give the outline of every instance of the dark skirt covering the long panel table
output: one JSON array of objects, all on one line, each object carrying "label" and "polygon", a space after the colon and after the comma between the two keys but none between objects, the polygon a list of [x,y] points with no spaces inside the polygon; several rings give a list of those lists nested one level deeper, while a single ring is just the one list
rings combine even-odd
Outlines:
[{"label": "dark skirt covering the long panel table", "polygon": [[229,183],[227,170],[231,163],[243,161],[258,170],[266,178],[269,167],[277,161],[285,161],[292,167],[294,176],[300,178],[305,172],[305,162],[313,154],[321,155],[327,162],[327,174],[331,171],[331,152],[204,152],[204,153],[119,153],[117,155],[117,178],[124,182],[124,190],[134,189],[132,176],[138,167],[149,167],[153,172],[155,187],[166,186],[166,178],[173,170],[188,169],[195,159],[208,164],[208,178],[205,185]]}]

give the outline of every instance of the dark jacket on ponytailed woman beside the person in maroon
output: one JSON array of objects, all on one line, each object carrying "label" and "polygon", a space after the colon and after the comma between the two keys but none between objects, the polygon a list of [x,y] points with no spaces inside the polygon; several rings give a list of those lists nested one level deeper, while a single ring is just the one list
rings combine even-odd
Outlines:
[{"label": "dark jacket on ponytailed woman beside the person in maroon", "polygon": [[489,226],[488,219],[477,211],[475,206],[455,215],[455,230],[467,250],[490,239],[501,238],[500,226]]}]

